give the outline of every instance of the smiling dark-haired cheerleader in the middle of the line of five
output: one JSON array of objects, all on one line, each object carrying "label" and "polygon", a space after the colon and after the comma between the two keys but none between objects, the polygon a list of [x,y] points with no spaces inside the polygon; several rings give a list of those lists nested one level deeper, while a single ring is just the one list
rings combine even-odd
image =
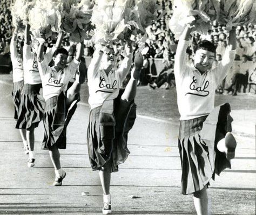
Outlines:
[{"label": "smiling dark-haired cheerleader in the middle of the line of five", "polygon": [[[43,55],[44,45],[39,45],[38,67],[43,84],[44,109],[44,140],[42,149],[48,149],[55,168],[54,186],[62,185],[66,172],[60,165],[59,149],[66,148],[66,127],[78,102],[80,74],[76,73],[82,56],[83,45],[77,44],[76,57],[68,64],[68,51],[58,48],[53,53],[54,65],[48,66],[49,60]],[[51,56],[52,57],[52,56]],[[76,80],[67,91],[69,81],[76,74]]]}]

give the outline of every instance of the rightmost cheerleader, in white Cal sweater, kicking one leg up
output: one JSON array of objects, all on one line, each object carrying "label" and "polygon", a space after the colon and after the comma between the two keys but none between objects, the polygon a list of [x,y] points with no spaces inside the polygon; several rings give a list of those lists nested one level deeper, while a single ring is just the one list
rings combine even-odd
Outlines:
[{"label": "rightmost cheerleader, in white Cal sweater, kicking one leg up", "polygon": [[177,87],[180,129],[178,147],[181,159],[181,192],[193,193],[197,214],[207,214],[207,186],[214,175],[231,168],[237,143],[232,130],[230,105],[214,108],[214,93],[225,78],[235,57],[235,29],[230,31],[223,60],[212,69],[215,46],[200,41],[193,64],[186,62],[186,49],[191,33],[187,26],[179,39],[174,75]]}]

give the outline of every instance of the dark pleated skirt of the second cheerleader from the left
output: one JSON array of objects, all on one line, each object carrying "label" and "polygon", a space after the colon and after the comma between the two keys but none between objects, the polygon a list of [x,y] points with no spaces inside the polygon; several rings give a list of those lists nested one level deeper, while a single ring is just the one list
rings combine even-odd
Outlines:
[{"label": "dark pleated skirt of the second cheerleader from the left", "polygon": [[28,129],[32,124],[38,127],[39,122],[43,119],[44,101],[39,95],[41,87],[42,84],[24,84],[20,96],[16,128]]}]

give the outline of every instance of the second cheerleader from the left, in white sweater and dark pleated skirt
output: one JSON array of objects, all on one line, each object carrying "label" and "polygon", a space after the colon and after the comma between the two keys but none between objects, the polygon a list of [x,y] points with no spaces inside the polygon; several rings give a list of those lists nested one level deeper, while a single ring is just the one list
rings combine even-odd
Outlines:
[{"label": "second cheerleader from the left, in white sweater and dark pleated skirt", "polygon": [[[21,102],[19,105],[16,128],[26,129],[26,140],[29,147],[28,167],[33,167],[36,159],[34,153],[34,130],[43,119],[44,101],[41,98],[41,95],[39,95],[42,88],[36,54],[39,43],[38,41],[33,40],[31,44],[29,32],[30,25],[27,24],[25,27],[25,40],[23,46],[24,86],[21,92]],[[55,47],[53,47],[46,56],[49,56],[54,50]],[[47,59],[49,59],[49,57],[47,57]]]}]

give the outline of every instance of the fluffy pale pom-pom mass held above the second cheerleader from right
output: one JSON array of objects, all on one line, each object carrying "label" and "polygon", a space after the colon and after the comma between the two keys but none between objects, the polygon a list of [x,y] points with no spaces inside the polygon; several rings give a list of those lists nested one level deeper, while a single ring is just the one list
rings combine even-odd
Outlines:
[{"label": "fluffy pale pom-pom mass held above the second cheerleader from right", "polygon": [[145,34],[146,27],[160,18],[161,9],[156,0],[105,0],[93,8],[96,41],[116,42],[130,40],[132,35]]}]

